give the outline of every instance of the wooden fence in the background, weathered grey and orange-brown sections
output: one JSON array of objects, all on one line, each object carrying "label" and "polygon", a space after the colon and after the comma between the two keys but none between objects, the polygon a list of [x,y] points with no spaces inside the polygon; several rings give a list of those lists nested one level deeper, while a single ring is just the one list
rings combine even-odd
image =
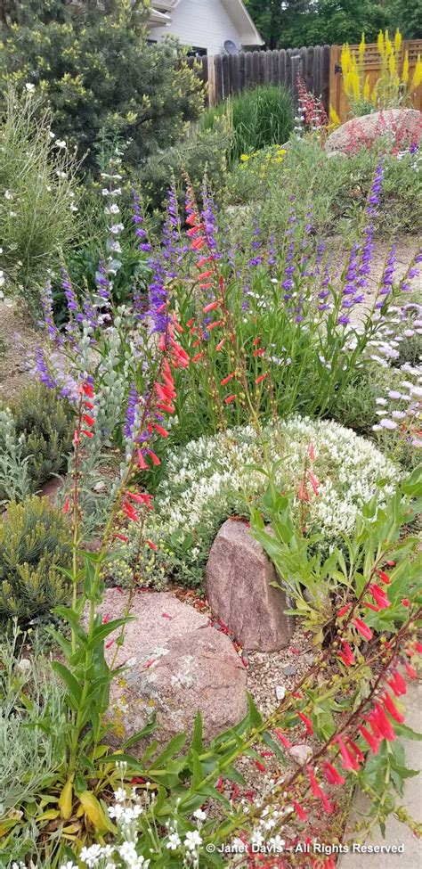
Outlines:
[{"label": "wooden fence in the background, weathered grey and orange-brown sections", "polygon": [[[351,45],[358,51],[358,45]],[[422,55],[422,40],[413,39],[402,43],[402,57],[409,52],[410,76],[413,74],[418,54]],[[280,51],[239,52],[239,54],[215,54],[209,57],[190,58],[189,63],[199,63],[199,74],[207,88],[210,105],[239,94],[247,87],[265,83],[281,84],[291,88],[296,98],[296,78],[304,78],[306,88],[319,96],[327,111],[329,105],[345,121],[349,107],[345,97],[341,73],[341,45],[315,45],[312,48],[288,48]],[[377,44],[367,45],[365,74],[370,86],[374,86],[380,74],[380,57]],[[413,105],[422,111],[422,86],[413,96]]]}]

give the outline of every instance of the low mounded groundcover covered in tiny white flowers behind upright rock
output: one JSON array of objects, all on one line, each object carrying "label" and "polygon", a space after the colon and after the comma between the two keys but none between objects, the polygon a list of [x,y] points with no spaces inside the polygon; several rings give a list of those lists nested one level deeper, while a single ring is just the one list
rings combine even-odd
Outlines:
[{"label": "low mounded groundcover covered in tiny white flowers behind upright rock", "polygon": [[[369,502],[377,482],[380,492],[393,492],[400,472],[371,442],[336,422],[294,417],[269,424],[264,430],[268,454],[280,491],[297,494],[304,462],[311,444],[315,448],[312,471],[319,481],[319,495],[311,492],[307,504],[309,533],[321,532],[325,552],[340,545],[353,531],[357,514]],[[158,544],[155,568],[148,555],[150,582],[164,568],[176,581],[199,584],[207,555],[220,526],[230,515],[248,516],[248,501],[260,504],[266,477],[263,448],[251,426],[235,428],[191,441],[168,455],[166,475],[158,484],[155,510],[149,516],[149,535]],[[128,547],[128,554],[131,546]],[[145,572],[142,580],[145,579]],[[148,578],[147,578],[147,581]]]}]

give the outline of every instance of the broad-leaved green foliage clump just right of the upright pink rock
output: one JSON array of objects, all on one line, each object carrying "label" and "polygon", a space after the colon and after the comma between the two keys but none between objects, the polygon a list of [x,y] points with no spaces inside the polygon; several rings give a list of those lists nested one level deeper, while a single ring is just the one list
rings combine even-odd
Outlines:
[{"label": "broad-leaved green foliage clump just right of the upright pink rock", "polygon": [[377,565],[386,561],[394,564],[385,588],[389,603],[379,611],[369,611],[367,624],[377,631],[393,630],[408,619],[403,599],[420,606],[422,553],[418,535],[409,534],[409,527],[422,506],[422,465],[401,488],[385,497],[385,504],[379,504],[379,491],[364,504],[353,534],[345,537],[345,554],[336,547],[325,560],[312,553],[312,537],[298,527],[291,498],[280,495],[273,479],[264,504],[272,534],[265,529],[257,509],[252,511],[251,528],[276,567],[280,587],[295,600],[292,612],[304,619],[304,627],[314,631],[316,644],[324,639],[339,601],[360,599]]}]

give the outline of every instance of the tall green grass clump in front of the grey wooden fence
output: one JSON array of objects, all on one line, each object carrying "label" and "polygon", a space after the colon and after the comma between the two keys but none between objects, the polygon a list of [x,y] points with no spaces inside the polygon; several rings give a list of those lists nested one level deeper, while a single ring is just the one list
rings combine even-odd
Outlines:
[{"label": "tall green grass clump in front of the grey wooden fence", "polygon": [[272,144],[288,140],[293,125],[292,96],[283,86],[262,85],[245,90],[214,108],[200,121],[202,129],[213,129],[226,118],[232,130],[230,162]]}]

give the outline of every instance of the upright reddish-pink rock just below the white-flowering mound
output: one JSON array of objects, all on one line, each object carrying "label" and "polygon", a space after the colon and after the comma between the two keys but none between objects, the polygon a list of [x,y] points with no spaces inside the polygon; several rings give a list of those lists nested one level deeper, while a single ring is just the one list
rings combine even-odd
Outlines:
[{"label": "upright reddish-pink rock just below the white-flowering mound", "polygon": [[248,651],[276,652],[293,634],[294,620],[284,615],[286,596],[273,581],[272,562],[246,523],[224,522],[207,563],[207,598]]}]

